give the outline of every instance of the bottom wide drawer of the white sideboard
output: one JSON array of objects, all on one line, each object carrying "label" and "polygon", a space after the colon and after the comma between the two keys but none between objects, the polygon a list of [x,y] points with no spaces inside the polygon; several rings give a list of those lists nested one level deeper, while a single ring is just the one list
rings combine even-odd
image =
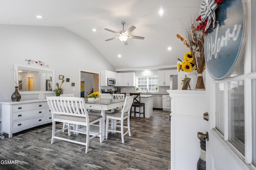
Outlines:
[{"label": "bottom wide drawer of the white sideboard", "polygon": [[14,122],[12,124],[12,128],[15,131],[15,129],[18,130],[18,129],[22,129],[25,127],[34,126],[38,124],[42,125],[43,123],[45,123],[45,116]]}]

